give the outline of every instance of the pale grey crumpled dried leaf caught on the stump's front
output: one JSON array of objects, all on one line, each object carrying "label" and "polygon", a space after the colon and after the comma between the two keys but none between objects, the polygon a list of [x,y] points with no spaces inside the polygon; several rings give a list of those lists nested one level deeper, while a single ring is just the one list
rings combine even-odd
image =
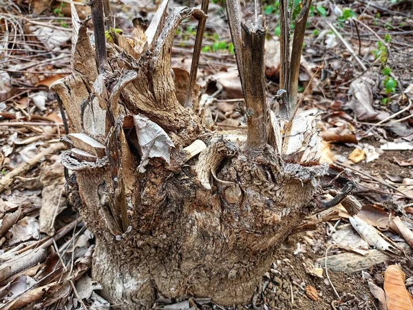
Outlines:
[{"label": "pale grey crumpled dried leaf caught on the stump's front", "polygon": [[165,130],[147,118],[147,116],[140,114],[134,115],[134,124],[140,145],[140,152],[142,153],[139,172],[146,171],[145,166],[149,163],[149,158],[160,157],[169,163],[169,148],[175,146]]}]

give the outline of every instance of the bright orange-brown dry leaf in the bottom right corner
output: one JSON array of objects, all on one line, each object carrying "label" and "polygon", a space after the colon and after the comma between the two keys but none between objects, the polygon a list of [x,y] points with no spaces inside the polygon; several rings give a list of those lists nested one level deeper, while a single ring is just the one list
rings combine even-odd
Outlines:
[{"label": "bright orange-brown dry leaf in the bottom right corner", "polygon": [[412,297],[405,288],[405,273],[390,265],[384,273],[384,291],[388,310],[413,310]]}]

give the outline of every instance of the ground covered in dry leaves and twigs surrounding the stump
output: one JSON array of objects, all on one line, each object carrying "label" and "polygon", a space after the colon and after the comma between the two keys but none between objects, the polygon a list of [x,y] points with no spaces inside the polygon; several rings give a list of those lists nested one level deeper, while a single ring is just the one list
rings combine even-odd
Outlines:
[{"label": "ground covered in dry leaves and twigs surrounding the stump", "polygon": [[[184,1],[171,6],[182,4],[200,5]],[[48,90],[54,81],[71,72],[68,4],[66,1],[1,0],[0,5],[0,182],[3,182],[0,187],[3,219],[0,307],[19,309],[30,304],[26,309],[33,309],[31,303],[34,302],[39,309],[109,309],[109,303],[98,296],[98,283],[89,278],[94,237],[78,219],[76,209],[67,203],[63,167],[59,164],[63,145],[56,144],[64,134],[62,115],[54,94]],[[131,33],[134,17],[151,19],[155,8],[150,1],[138,5],[132,1],[115,1],[111,6],[116,28],[126,34]],[[245,4],[246,18],[251,17],[246,13],[252,11],[250,6],[251,3]],[[76,8],[81,18],[89,14],[87,6]],[[264,13],[268,25],[266,77],[268,102],[271,102],[279,82],[277,3],[264,3]],[[198,83],[204,92],[218,99],[209,107],[213,121],[210,129],[245,130],[242,117],[236,112],[242,91],[222,3],[211,3],[209,14]],[[341,33],[342,40],[332,33],[329,25]],[[321,111],[319,127],[324,140],[328,141],[324,161],[362,173],[355,195],[363,210],[373,208],[372,212],[364,213],[364,219],[370,226],[377,226],[378,218],[400,216],[410,231],[413,223],[412,25],[411,1],[313,2],[300,74],[301,91],[314,76],[302,107]],[[89,30],[92,32],[92,28]],[[185,22],[174,44],[173,63],[187,70],[191,65],[195,30],[194,21]],[[354,60],[351,49],[359,55],[366,70]],[[367,78],[369,80],[365,80]],[[392,81],[396,81],[396,85]],[[399,121],[394,123],[394,120]],[[383,123],[374,125],[379,121]],[[381,149],[388,142],[395,143],[393,149]],[[48,149],[51,146],[54,149]],[[36,158],[44,151],[45,156]],[[4,185],[12,172],[30,161],[28,169],[12,176],[12,182]],[[340,241],[332,238],[332,234],[349,225],[346,214],[339,211],[319,222],[317,229],[295,234],[277,249],[273,265],[268,266],[261,286],[251,297],[251,304],[234,308],[377,309],[379,305],[370,293],[368,282],[383,287],[384,272],[395,262],[401,263],[406,273],[405,287],[412,289],[409,251],[387,256],[364,271],[330,270],[330,280],[325,269],[320,273],[322,278],[310,274],[308,261],[317,269],[327,249],[329,258],[339,253],[350,254],[358,250],[361,239],[350,229],[354,235],[346,247],[336,246]],[[383,227],[387,224],[379,226],[385,230]],[[54,242],[48,242],[47,235],[53,236],[60,229],[63,233],[55,236]],[[398,245],[404,245],[408,239],[394,231],[385,231],[385,234]],[[333,244],[335,246],[330,247]],[[375,245],[364,246],[362,249],[366,251]],[[47,254],[34,259],[34,248],[47,249]],[[10,275],[4,268],[16,265],[17,261],[12,261],[14,252],[19,258],[28,253],[33,260],[30,263],[28,257],[21,260],[23,265],[13,269]],[[350,267],[361,257],[352,255],[348,259]],[[223,309],[208,296],[204,297],[168,300],[160,296],[155,307]],[[177,302],[180,303],[177,305]],[[110,307],[117,308],[116,305]]]}]

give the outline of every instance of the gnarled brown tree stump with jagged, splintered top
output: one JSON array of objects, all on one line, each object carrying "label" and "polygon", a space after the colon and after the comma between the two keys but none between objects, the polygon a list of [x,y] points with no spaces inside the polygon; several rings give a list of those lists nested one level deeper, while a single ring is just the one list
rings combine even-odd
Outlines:
[{"label": "gnarled brown tree stump with jagged, splintered top", "polygon": [[146,31],[136,24],[133,40],[113,34],[105,70],[72,10],[74,73],[51,87],[72,131],[62,162],[76,174],[80,213],[96,236],[92,275],[123,309],[149,308],[160,296],[248,302],[277,243],[315,206],[328,167],[299,164],[313,141],[308,128],[295,162],[267,144],[262,16],[237,24],[240,32],[231,26],[242,35],[247,136],[204,129],[178,101],[171,75],[176,28],[204,13],[166,16],[165,1]]}]

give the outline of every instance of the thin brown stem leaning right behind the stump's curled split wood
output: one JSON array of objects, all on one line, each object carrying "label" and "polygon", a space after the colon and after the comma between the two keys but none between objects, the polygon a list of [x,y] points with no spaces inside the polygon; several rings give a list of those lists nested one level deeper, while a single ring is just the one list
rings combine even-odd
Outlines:
[{"label": "thin brown stem leaning right behind the stump's curled split wood", "polygon": [[209,0],[202,0],[201,10],[205,13],[205,17],[200,17],[198,22],[198,30],[196,32],[195,47],[193,48],[193,56],[191,63],[191,72],[189,73],[189,83],[187,87],[187,94],[185,95],[185,107],[192,106],[192,92],[196,81],[196,74],[198,72],[198,65],[200,63],[200,54],[202,48],[202,39],[204,38],[205,25],[207,24]]}]

